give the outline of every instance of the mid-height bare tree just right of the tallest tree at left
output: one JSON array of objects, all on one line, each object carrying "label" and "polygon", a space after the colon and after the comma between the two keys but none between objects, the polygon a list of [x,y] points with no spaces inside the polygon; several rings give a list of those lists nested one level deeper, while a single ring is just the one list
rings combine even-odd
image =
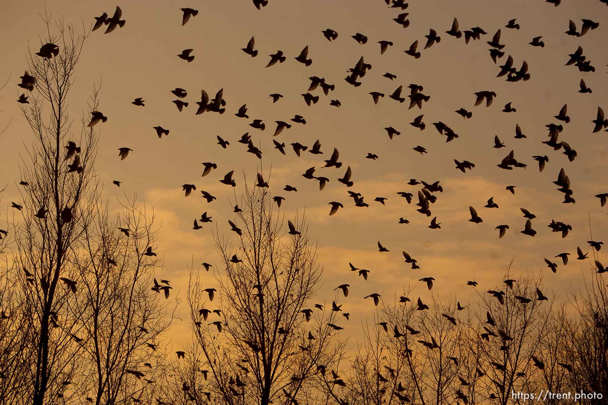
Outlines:
[{"label": "mid-height bare tree just right of the tallest tree at left", "polygon": [[164,362],[173,317],[167,312],[170,281],[162,282],[165,290],[151,290],[161,259],[144,255],[157,239],[154,214],[148,216],[135,198],[122,206],[114,221],[107,205],[100,209],[78,241],[84,244],[77,249],[86,254],[72,256],[85,297],[71,336],[88,360],[80,391],[95,405],[131,403],[152,389],[146,380],[154,379]]}]

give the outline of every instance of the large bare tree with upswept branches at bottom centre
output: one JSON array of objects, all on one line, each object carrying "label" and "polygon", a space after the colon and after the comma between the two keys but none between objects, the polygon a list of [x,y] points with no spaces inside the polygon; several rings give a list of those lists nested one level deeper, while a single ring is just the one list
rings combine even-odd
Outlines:
[{"label": "large bare tree with upswept branches at bottom centre", "polygon": [[[195,342],[189,379],[178,381],[176,389],[186,383],[191,392],[209,392],[225,404],[326,398],[317,388],[342,348],[336,335],[341,327],[338,311],[311,308],[322,269],[305,220],[289,221],[286,234],[266,188],[246,185],[240,206],[233,220],[242,228],[236,231],[238,248],[214,233],[225,269],[215,274],[217,284],[190,272]],[[195,369],[204,370],[206,383]]]}]

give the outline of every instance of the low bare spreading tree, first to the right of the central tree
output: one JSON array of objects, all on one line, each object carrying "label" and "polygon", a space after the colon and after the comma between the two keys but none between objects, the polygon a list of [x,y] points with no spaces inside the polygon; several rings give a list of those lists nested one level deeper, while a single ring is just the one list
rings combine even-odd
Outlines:
[{"label": "low bare spreading tree, first to the right of the central tree", "polygon": [[382,302],[373,335],[364,330],[351,378],[356,403],[442,404],[454,397],[459,363],[451,358],[461,358],[463,347],[454,305],[433,294],[419,309],[410,296],[408,290],[399,301]]}]

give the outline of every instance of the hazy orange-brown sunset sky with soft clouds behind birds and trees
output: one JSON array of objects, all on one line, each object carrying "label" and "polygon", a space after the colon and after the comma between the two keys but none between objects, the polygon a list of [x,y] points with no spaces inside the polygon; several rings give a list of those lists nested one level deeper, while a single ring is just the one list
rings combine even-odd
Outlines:
[{"label": "hazy orange-brown sunset sky with soft clouds behind birds and trees", "polygon": [[[112,15],[115,7],[106,1],[46,3],[54,18],[61,16],[78,27],[84,24],[87,30],[94,16],[103,12]],[[502,281],[505,265],[513,257],[515,276],[542,276],[545,292],[561,297],[566,296],[570,285],[582,285],[582,274],[590,274],[592,262],[574,260],[573,256],[577,246],[593,256],[586,242],[591,240],[589,224],[593,240],[607,239],[608,206],[601,208],[594,195],[608,192],[608,134],[592,134],[590,122],[596,118],[597,107],[606,103],[608,55],[603,52],[602,39],[606,38],[606,4],[563,0],[559,7],[553,7],[542,0],[412,0],[406,10],[410,26],[405,29],[392,21],[401,11],[389,9],[382,0],[270,0],[260,11],[249,0],[131,0],[120,7],[126,20],[123,28],[108,35],[100,29],[86,39],[70,94],[70,112],[77,117],[72,132],[80,131],[78,120],[83,115],[88,117],[86,101],[92,87],[100,85],[99,109],[108,121],[98,126],[101,134],[95,169],[101,175],[104,195],[124,199],[137,193],[140,202],[153,206],[162,222],[157,253],[164,256],[165,270],[160,276],[171,280],[172,293],[177,292],[182,302],[187,293],[188,266],[194,264],[198,271],[204,271],[201,262],[219,264],[212,227],[192,230],[193,219],[207,211],[213,217],[213,228],[217,224],[220,234],[233,238],[227,225],[227,220],[233,219],[229,199],[233,200],[233,192],[237,196],[243,192],[243,173],[251,182],[260,165],[266,174],[272,169],[271,193],[285,197],[281,208],[286,218],[294,217],[296,211],[306,213],[309,235],[318,243],[319,264],[324,269],[318,301],[330,304],[338,292],[333,291],[337,285],[351,285],[349,297],[343,301],[353,315],[345,330],[352,336],[359,335],[361,320],[371,316],[374,309],[359,296],[378,292],[392,299],[404,286],[411,285],[415,288],[412,294],[424,299],[430,293],[426,284],[418,281],[421,277],[435,277],[435,294],[467,302],[478,296],[466,281],[477,281],[480,291],[494,287]],[[199,10],[185,26],[181,26],[182,7]],[[45,33],[38,16],[44,14],[44,8],[41,1],[9,2],[0,16],[0,33],[8,44],[3,50],[0,81],[4,83],[10,77],[0,94],[0,127],[9,124],[0,137],[0,184],[7,184],[2,205],[7,207],[18,199],[20,156],[33,141],[15,102],[21,94],[15,84],[27,67],[27,47],[35,52],[40,46],[39,36]],[[454,17],[461,30],[478,26],[488,35],[465,44],[464,38],[445,34]],[[513,18],[517,18],[519,30],[505,28]],[[598,29],[576,38],[564,33],[568,19],[575,21],[579,30],[581,19],[600,24]],[[321,31],[327,28],[339,33],[336,41],[330,43],[324,38]],[[438,32],[441,42],[424,50],[424,35],[430,28]],[[497,29],[502,30],[500,43],[505,44],[505,56],[495,65],[486,41]],[[368,36],[368,43],[360,45],[350,38],[356,33]],[[545,47],[528,44],[540,35]],[[255,58],[241,50],[251,36],[255,36],[255,49],[259,50]],[[420,59],[403,52],[416,39]],[[380,54],[381,40],[394,44],[384,55]],[[294,60],[305,46],[313,60],[308,67]],[[583,47],[596,72],[564,66],[568,53],[578,46]],[[192,63],[176,56],[190,48],[195,56]],[[287,56],[285,63],[265,67],[268,55],[277,50]],[[523,60],[527,61],[530,81],[508,83],[496,78],[498,66],[508,55],[513,56],[518,69]],[[372,69],[355,88],[344,78],[361,56]],[[385,72],[397,78],[391,81],[382,77]],[[315,90],[319,102],[309,107],[301,94],[313,75],[324,77],[336,89],[327,97],[320,88]],[[577,92],[581,78],[592,94]],[[396,87],[406,88],[410,83],[420,84],[423,93],[430,96],[420,110],[407,109],[407,98],[400,104],[388,97]],[[170,90],[176,87],[188,92],[184,101],[190,106],[183,112],[171,103],[176,97]],[[200,90],[213,97],[220,88],[224,89],[226,114],[195,115]],[[407,96],[406,90],[403,97]],[[474,92],[480,90],[496,92],[490,107],[474,106]],[[373,91],[386,95],[377,105],[368,94]],[[272,93],[285,97],[272,103]],[[130,104],[136,97],[145,100],[145,107]],[[330,106],[334,99],[340,100],[340,107]],[[508,102],[517,112],[501,112]],[[572,118],[568,124],[553,118],[566,103]],[[243,104],[247,104],[249,119],[233,115]],[[454,112],[461,107],[471,111],[472,118]],[[295,114],[305,117],[306,125],[289,121]],[[424,114],[424,131],[409,125],[420,114]],[[263,120],[266,130],[248,126],[253,119]],[[275,137],[286,143],[287,155],[280,154],[272,144],[275,120],[293,124]],[[460,136],[446,143],[444,135],[432,125],[437,121],[443,121]],[[548,123],[564,125],[559,139],[578,151],[574,162],[541,143],[548,140]],[[513,138],[516,124],[527,138]],[[169,129],[170,135],[159,140],[153,129],[157,125]],[[401,135],[390,140],[383,129],[388,126]],[[263,152],[261,161],[237,142],[245,132]],[[216,145],[216,135],[230,141],[228,149]],[[505,148],[492,148],[494,135]],[[302,152],[297,157],[289,147],[289,143],[299,142],[310,148],[317,139],[323,155]],[[413,151],[417,145],[424,146],[428,154]],[[122,147],[133,152],[120,161],[117,149]],[[322,161],[329,158],[334,147],[339,149],[344,165],[322,169]],[[528,164],[526,169],[506,171],[496,167],[511,149],[517,160]],[[365,158],[368,152],[377,154],[378,159]],[[539,173],[533,155],[548,156],[543,172]],[[469,160],[475,168],[462,173],[455,169],[454,159]],[[218,169],[201,177],[202,162],[214,162]],[[318,182],[300,175],[312,166],[317,169],[316,175],[330,179],[323,191],[319,191]],[[353,172],[351,188],[336,181],[344,175],[346,166]],[[552,183],[561,168],[570,177],[575,204],[562,203],[563,194]],[[237,181],[235,190],[217,181],[232,170]],[[432,216],[441,222],[440,230],[427,228],[432,217],[416,213],[414,204],[420,186],[407,185],[410,179],[441,181],[443,193],[435,193],[437,202],[431,206]],[[112,180],[122,182],[120,189],[112,185]],[[189,197],[184,197],[184,183],[196,185]],[[287,184],[298,191],[283,191]],[[514,195],[505,190],[508,185],[516,186]],[[208,204],[201,199],[201,190],[217,200]],[[370,206],[354,207],[347,190],[361,192]],[[412,192],[413,203],[408,205],[396,194],[398,191]],[[375,197],[386,197],[385,205],[374,202]],[[483,208],[490,197],[499,209]],[[344,209],[330,217],[331,201],[343,203]],[[483,223],[468,222],[469,205],[477,209]],[[536,215],[536,237],[519,233],[525,224],[521,207]],[[0,223],[4,223],[10,208],[2,208],[0,213]],[[408,219],[409,225],[398,224],[399,217]],[[547,227],[551,219],[568,223],[573,230],[562,239],[561,234],[551,233]],[[501,224],[510,225],[510,229],[499,239],[494,228]],[[390,252],[379,253],[378,241]],[[418,260],[420,270],[412,270],[403,262],[402,250]],[[565,267],[559,258],[553,259],[561,252],[573,255]],[[557,273],[546,267],[545,257],[558,263]],[[369,269],[368,281],[351,272],[348,262]],[[213,282],[210,273],[204,277]],[[181,304],[177,314],[183,320],[174,322],[171,330],[174,347],[182,344],[189,327],[187,313],[185,304]]]}]

